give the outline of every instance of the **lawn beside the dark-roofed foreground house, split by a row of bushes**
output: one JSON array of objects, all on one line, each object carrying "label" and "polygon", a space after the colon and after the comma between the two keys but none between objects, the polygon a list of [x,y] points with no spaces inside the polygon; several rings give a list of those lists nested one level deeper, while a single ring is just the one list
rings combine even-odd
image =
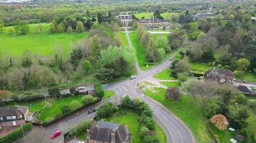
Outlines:
[{"label": "lawn beside the dark-roofed foreground house, split by a row of bushes", "polygon": [[[131,110],[119,110],[119,112],[127,112],[127,114],[122,114],[120,117],[116,117],[116,114],[113,114],[111,117],[107,118],[108,122],[115,122],[117,124],[126,124],[129,132],[132,133],[132,142],[142,143],[142,137],[140,137],[140,124],[138,123],[139,117],[136,112]],[[166,143],[165,132],[155,124],[157,138],[160,139],[160,143]]]}]

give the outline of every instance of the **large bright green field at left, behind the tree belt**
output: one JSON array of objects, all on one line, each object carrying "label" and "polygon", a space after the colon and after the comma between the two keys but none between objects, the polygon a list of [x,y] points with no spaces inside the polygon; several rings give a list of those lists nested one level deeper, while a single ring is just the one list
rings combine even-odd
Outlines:
[{"label": "large bright green field at left, behind the tree belt", "polygon": [[31,51],[35,54],[47,56],[52,54],[56,49],[55,46],[63,47],[65,56],[70,52],[70,44],[78,39],[88,36],[88,32],[73,32],[50,34],[48,32],[49,24],[42,24],[42,32],[36,33],[35,27],[38,24],[29,24],[29,34],[11,35],[7,31],[9,27],[5,27],[3,34],[0,34],[0,56],[6,54],[12,56],[21,56],[24,51]]}]

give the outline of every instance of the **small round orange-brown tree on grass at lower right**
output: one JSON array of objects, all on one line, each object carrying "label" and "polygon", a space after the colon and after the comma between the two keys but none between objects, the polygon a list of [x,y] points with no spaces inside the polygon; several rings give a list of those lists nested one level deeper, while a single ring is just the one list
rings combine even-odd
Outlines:
[{"label": "small round orange-brown tree on grass at lower right", "polygon": [[227,126],[229,125],[227,118],[222,114],[214,115],[213,117],[211,117],[210,122],[220,130],[227,129]]}]

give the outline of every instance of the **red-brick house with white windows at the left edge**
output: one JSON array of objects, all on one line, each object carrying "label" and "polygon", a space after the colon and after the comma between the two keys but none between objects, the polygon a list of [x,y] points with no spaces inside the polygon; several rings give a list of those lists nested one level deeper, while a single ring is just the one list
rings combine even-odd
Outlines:
[{"label": "red-brick house with white windows at the left edge", "polygon": [[24,124],[32,120],[29,109],[23,106],[1,107],[0,108],[0,127],[12,127]]}]

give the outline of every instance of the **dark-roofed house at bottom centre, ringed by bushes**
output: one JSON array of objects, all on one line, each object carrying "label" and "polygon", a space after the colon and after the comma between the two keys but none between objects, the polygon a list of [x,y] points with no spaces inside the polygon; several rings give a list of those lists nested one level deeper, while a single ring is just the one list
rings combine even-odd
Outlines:
[{"label": "dark-roofed house at bottom centre, ringed by bushes", "polygon": [[128,143],[130,140],[127,126],[104,121],[93,124],[87,136],[88,143]]}]

